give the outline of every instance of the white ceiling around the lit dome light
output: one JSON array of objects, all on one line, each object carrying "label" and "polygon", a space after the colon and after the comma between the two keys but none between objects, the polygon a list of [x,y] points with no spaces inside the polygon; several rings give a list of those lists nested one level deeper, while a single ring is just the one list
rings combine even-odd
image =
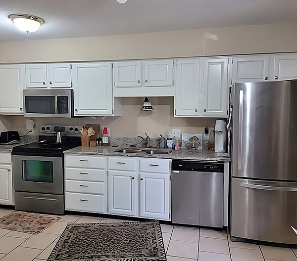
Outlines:
[{"label": "white ceiling around the lit dome light", "polygon": [[[36,33],[11,13],[40,16]],[[297,21],[297,0],[0,0],[0,41],[123,35]]]}]

